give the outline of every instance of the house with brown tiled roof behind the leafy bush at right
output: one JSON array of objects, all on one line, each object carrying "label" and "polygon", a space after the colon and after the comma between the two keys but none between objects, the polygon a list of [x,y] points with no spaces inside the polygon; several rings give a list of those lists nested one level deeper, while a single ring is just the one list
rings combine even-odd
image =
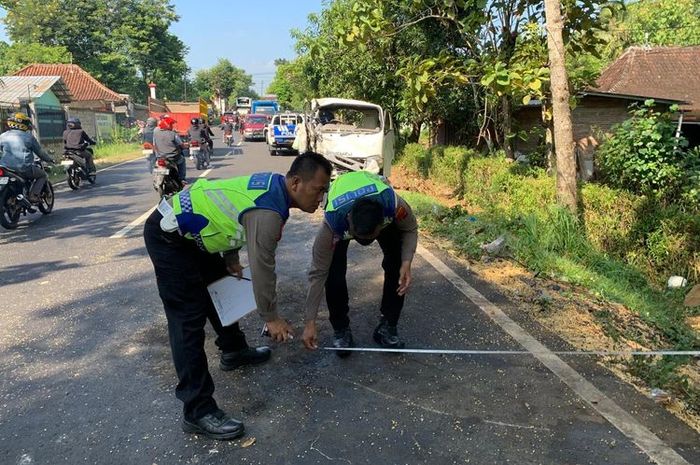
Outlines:
[{"label": "house with brown tiled roof behind the leafy bush at right", "polygon": [[[600,134],[629,118],[629,107],[653,99],[658,110],[677,105],[682,134],[691,146],[700,145],[700,46],[627,49],[603,71],[596,85],[576,96],[571,119],[579,168],[583,178],[593,173],[593,153]],[[516,150],[539,150],[544,140],[542,107],[532,100],[514,114],[519,130]]]}]

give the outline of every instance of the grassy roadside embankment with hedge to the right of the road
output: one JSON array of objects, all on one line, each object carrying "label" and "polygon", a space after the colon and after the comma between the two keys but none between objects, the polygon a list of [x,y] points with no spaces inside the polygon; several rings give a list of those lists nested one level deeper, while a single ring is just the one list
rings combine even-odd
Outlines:
[{"label": "grassy roadside embankment with hedge to the right of the road", "polygon": [[[463,147],[426,150],[409,144],[397,165],[417,184],[442,186],[457,205],[415,192],[402,192],[421,228],[446,239],[452,248],[479,259],[481,244],[505,234],[507,254],[534,276],[587,289],[596,299],[622,304],[653,334],[616,322],[614,307],[594,317],[612,339],[638,341],[648,348],[700,349],[688,324],[698,308],[682,304],[688,288],[666,289],[671,275],[689,286],[700,280],[700,215],[597,184],[580,189],[578,218],[558,208],[554,179],[543,170],[510,163],[503,156],[482,157]],[[641,358],[626,369],[649,386],[673,392],[700,414],[700,386],[685,376],[691,357]],[[697,369],[697,367],[695,367]]]}]

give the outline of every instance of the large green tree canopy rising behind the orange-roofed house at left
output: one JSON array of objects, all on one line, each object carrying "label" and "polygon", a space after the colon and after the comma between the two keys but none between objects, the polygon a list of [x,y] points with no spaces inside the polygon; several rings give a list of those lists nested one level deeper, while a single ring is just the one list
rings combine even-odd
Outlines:
[{"label": "large green tree canopy rising behind the orange-roofed house at left", "polygon": [[65,47],[108,87],[145,98],[154,81],[181,91],[186,47],[168,32],[178,20],[169,0],[0,0],[14,43]]}]

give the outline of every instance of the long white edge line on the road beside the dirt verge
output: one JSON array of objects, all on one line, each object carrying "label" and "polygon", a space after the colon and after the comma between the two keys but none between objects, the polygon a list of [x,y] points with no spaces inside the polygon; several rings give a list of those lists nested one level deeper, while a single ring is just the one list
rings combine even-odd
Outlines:
[{"label": "long white edge line on the road beside the dirt verge", "polygon": [[438,273],[450,281],[462,294],[471,300],[481,311],[488,315],[497,325],[520,345],[532,353],[544,366],[571,388],[591,408],[600,413],[622,434],[632,440],[651,460],[663,465],[690,465],[675,450],[666,445],[654,433],[639,423],[632,415],[613,402],[576,370],[567,365],[552,351],[532,337],[503,310],[491,303],[476,289],[471,287],[450,267],[433,255],[425,247],[418,246],[418,253],[432,265]]}]

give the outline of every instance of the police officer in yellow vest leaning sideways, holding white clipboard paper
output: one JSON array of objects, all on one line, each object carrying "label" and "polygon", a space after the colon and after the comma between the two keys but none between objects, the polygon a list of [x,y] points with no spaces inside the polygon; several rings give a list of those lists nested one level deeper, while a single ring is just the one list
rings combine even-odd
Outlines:
[{"label": "police officer in yellow vest leaning sideways, holding white clipboard paper", "polygon": [[297,157],[286,176],[256,173],[220,181],[201,179],[161,205],[146,221],[146,249],[155,268],[168,320],[170,348],[184,403],[183,431],[212,439],[234,439],[243,423],[220,410],[204,351],[209,320],[222,355],[219,367],[232,370],[270,358],[267,347],[248,347],[238,323],[222,326],[207,285],[227,273],[242,276],[238,250],[247,243],[253,293],[270,336],[284,342],[289,324],[276,309],[275,250],[289,209],[313,213],[328,190],[331,165],[316,153]]}]

